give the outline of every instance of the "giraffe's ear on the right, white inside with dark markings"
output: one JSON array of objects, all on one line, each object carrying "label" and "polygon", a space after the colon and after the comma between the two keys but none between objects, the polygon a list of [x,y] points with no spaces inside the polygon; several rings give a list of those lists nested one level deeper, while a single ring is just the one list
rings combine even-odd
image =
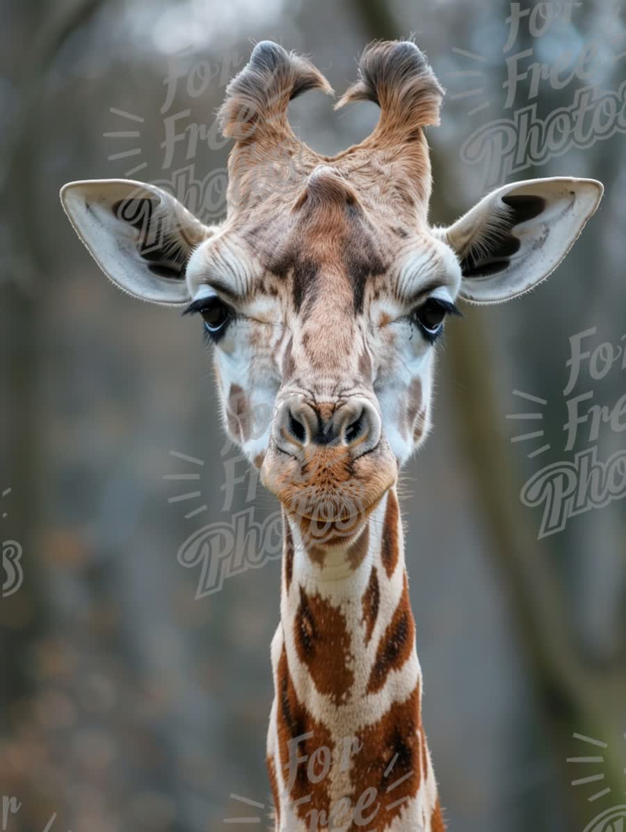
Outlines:
[{"label": "giraffe's ear on the right, white inside with dark markings", "polygon": [[559,265],[602,199],[594,179],[534,179],[488,194],[436,233],[461,263],[460,295],[477,304],[522,295]]}]

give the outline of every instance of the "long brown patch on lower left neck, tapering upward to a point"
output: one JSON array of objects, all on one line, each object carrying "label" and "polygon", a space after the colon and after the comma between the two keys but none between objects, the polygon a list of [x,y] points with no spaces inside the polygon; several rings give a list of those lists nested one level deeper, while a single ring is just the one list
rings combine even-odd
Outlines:
[{"label": "long brown patch on lower left neck, tapering upward to a point", "polygon": [[[295,765],[293,762],[293,751],[290,750],[290,741],[292,741],[291,747],[293,748],[293,740],[297,740],[298,755],[304,755],[308,757],[308,760],[311,760],[313,755],[315,755],[316,760],[320,763],[323,760],[321,759],[319,750],[328,749],[328,752],[332,755],[335,744],[330,731],[322,722],[315,720],[308,709],[298,700],[298,694],[296,693],[289,672],[287,651],[284,646],[278,661],[276,675],[278,749],[280,763],[288,778],[290,773],[289,761],[292,760],[292,765]],[[300,739],[305,734],[311,734],[311,736],[307,737],[307,739]],[[318,812],[328,810],[328,785],[330,779],[323,777],[318,783],[313,782],[313,779],[318,780],[317,775],[320,773],[320,768],[321,766],[318,766],[315,769],[315,778],[309,779],[307,774],[308,766],[296,766],[295,780],[289,796],[294,803],[293,809],[301,819],[304,819],[311,810]],[[296,801],[307,797],[310,797],[310,800],[296,805]]]}]

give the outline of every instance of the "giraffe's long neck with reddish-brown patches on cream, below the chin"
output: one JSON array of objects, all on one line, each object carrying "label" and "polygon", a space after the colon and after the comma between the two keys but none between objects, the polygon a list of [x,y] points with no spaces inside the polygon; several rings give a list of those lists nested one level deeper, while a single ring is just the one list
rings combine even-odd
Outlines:
[{"label": "giraffe's long neck with reddish-brown patches on cream, below the chin", "polygon": [[395,490],[350,547],[284,518],[268,736],[277,830],[441,832]]}]

